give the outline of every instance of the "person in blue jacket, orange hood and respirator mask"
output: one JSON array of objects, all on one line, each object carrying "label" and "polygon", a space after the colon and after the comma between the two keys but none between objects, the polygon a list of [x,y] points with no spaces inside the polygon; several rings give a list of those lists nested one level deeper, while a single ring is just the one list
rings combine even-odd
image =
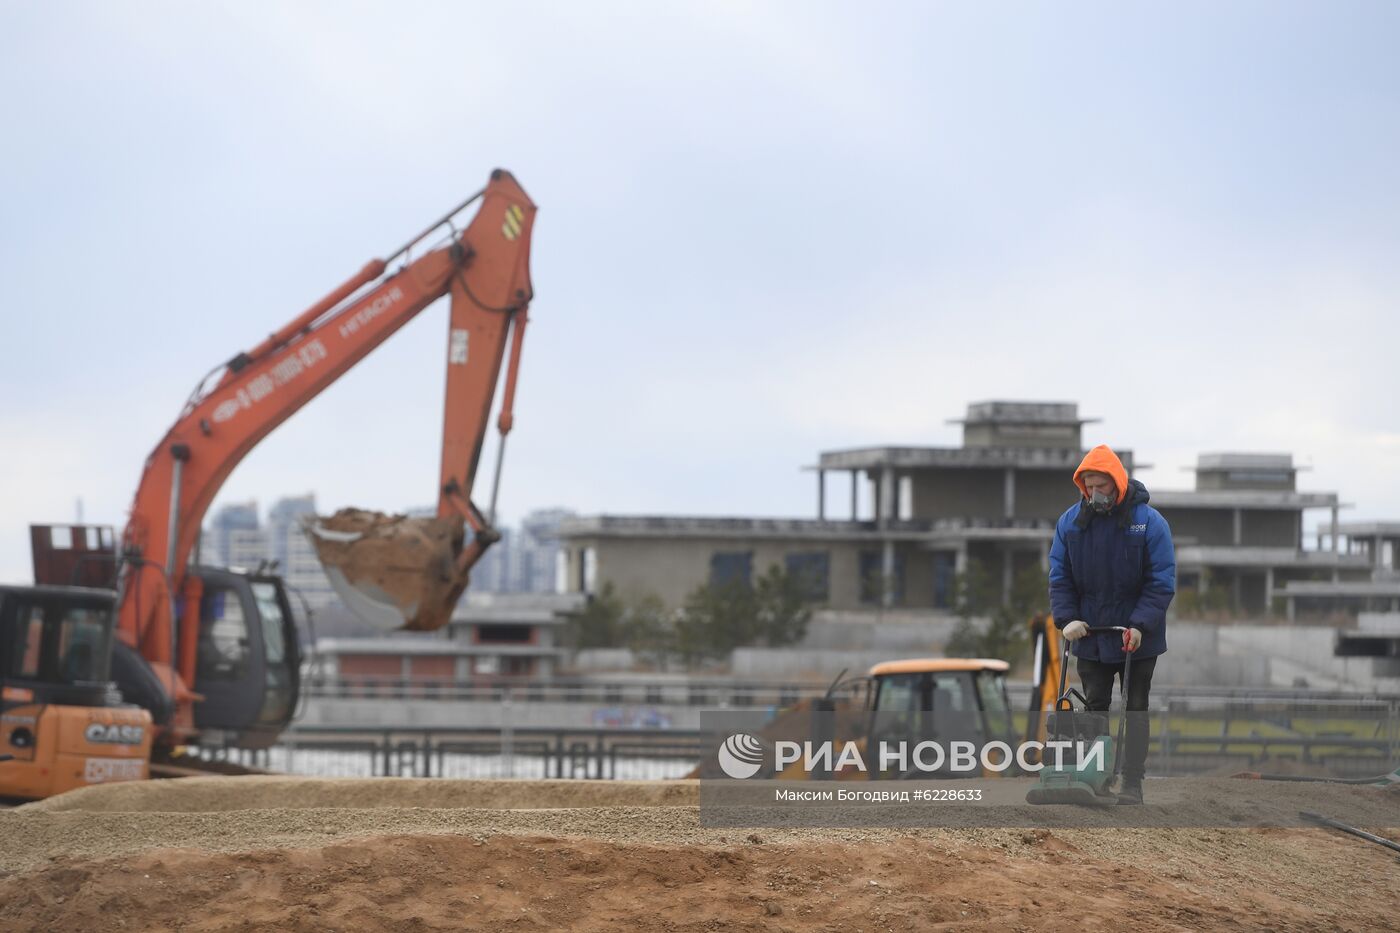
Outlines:
[{"label": "person in blue jacket, orange hood and respirator mask", "polygon": [[[1050,546],[1050,612],[1072,644],[1086,706],[1105,712],[1113,678],[1128,678],[1127,741],[1121,749],[1120,804],[1142,803],[1148,744],[1148,693],[1158,656],[1166,651],[1166,607],[1176,593],[1176,551],[1162,514],[1147,504],[1147,486],[1128,479],[1117,454],[1091,450],[1074,485],[1081,499],[1056,523]],[[1124,626],[1126,632],[1089,632]],[[1131,714],[1137,713],[1137,714]]]}]

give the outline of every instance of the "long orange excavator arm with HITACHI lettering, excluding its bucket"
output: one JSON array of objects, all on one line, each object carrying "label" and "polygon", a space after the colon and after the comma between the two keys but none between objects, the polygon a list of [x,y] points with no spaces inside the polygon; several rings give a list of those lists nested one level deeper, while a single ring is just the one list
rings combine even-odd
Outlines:
[{"label": "long orange excavator arm with HITACHI lettering, excluding its bucket", "polygon": [[[459,233],[452,219],[475,200],[480,207]],[[438,517],[465,520],[473,531],[470,544],[455,559],[461,579],[456,593],[465,587],[468,569],[498,537],[472,503],[472,488],[514,331],[498,424],[503,445],[511,427],[532,297],[529,247],[535,212],[510,172],[494,171],[483,191],[388,261],[370,262],[196,388],[146,461],[122,542],[125,570],[118,611],[119,637],[158,674],[178,672],[178,699],[188,698],[186,685],[193,685],[200,623],[202,584],[188,573],[188,562],[204,513],[224,481],[258,441],[445,294],[451,296],[451,312]],[[412,258],[414,248],[444,228],[445,244],[438,241],[437,248]],[[385,275],[399,258],[402,265]]]}]

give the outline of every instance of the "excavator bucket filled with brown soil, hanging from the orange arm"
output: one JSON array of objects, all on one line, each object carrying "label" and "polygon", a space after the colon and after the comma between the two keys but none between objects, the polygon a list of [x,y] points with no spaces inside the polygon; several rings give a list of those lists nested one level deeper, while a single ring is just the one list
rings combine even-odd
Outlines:
[{"label": "excavator bucket filled with brown soil, hanging from the orange arm", "polygon": [[409,518],[342,509],[304,523],[330,586],[361,619],[385,630],[440,629],[466,588],[458,572],[461,518]]}]

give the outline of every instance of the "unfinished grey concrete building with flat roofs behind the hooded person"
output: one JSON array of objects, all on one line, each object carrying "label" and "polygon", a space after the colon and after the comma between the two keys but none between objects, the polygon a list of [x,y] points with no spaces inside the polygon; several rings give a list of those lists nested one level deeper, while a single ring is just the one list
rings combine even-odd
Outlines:
[{"label": "unfinished grey concrete building with flat roofs behind the hooded person", "polygon": [[[809,520],[568,518],[560,576],[571,593],[612,581],[680,605],[700,584],[752,580],[777,565],[799,573],[827,608],[951,611],[955,579],[979,567],[1007,598],[1018,573],[1046,566],[1054,523],[1078,496],[1071,474],[1092,420],[1072,402],[976,402],[953,422],[960,447],[823,451],[809,468]],[[1133,451],[1116,452],[1130,474],[1145,469]],[[1340,504],[1333,492],[1298,492],[1291,455],[1201,454],[1194,472],[1194,489],[1147,483],[1172,525],[1179,591],[1260,615],[1289,586],[1371,579],[1368,558],[1337,546],[1336,535],[1326,549],[1303,548],[1305,514],[1327,510],[1336,523]]]}]

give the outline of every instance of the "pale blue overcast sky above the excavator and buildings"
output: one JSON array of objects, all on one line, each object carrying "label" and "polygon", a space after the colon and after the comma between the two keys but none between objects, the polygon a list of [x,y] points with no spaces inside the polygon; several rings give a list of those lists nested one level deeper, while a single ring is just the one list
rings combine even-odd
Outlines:
[{"label": "pale blue overcast sky above the excavator and buildings", "polygon": [[[1149,488],[1287,451],[1347,517],[1400,518],[1397,27],[1389,3],[4,0],[0,581],[80,497],[125,524],[199,377],[497,165],[540,206],[507,521],[811,517],[818,451],[955,445],[991,398],[1077,401]],[[218,503],[434,502],[445,318]]]}]

